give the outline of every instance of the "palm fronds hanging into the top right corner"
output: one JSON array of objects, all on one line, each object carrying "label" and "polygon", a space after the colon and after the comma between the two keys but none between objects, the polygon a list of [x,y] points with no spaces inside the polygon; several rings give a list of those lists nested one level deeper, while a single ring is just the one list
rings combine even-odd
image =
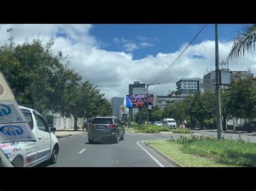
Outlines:
[{"label": "palm fronds hanging into the top right corner", "polygon": [[256,24],[245,25],[242,31],[238,32],[233,43],[228,59],[244,57],[246,54],[247,56],[255,54]]}]

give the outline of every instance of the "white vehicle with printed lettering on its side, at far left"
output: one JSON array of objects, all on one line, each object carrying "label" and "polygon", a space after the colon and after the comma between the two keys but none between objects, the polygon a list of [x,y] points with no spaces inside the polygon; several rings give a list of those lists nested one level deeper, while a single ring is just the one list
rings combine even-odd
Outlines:
[{"label": "white vehicle with printed lettering on its side, at far left", "polygon": [[[21,107],[36,141],[0,142],[0,150],[15,167],[32,167],[44,161],[55,164],[58,158],[59,144],[53,132],[56,128],[49,128],[44,118],[36,110]],[[0,130],[0,133],[18,133],[15,126]]]}]

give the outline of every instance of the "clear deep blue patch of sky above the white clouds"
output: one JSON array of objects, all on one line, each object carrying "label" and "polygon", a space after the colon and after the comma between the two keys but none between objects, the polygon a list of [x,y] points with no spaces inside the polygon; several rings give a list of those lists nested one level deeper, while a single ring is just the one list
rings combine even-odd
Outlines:
[{"label": "clear deep blue patch of sky above the white clouds", "polygon": [[[159,52],[176,52],[183,43],[188,43],[203,24],[96,24],[90,31],[100,47],[107,51],[125,51],[124,43],[116,43],[117,39],[124,39],[126,43],[139,44],[145,37],[145,42],[152,44],[144,48],[134,49],[131,52],[133,59],[142,59],[147,55],[156,56]],[[240,24],[219,24],[219,40],[231,41],[237,34]],[[204,40],[214,40],[214,25],[208,24],[193,44]],[[192,44],[192,45],[193,45]]]}]

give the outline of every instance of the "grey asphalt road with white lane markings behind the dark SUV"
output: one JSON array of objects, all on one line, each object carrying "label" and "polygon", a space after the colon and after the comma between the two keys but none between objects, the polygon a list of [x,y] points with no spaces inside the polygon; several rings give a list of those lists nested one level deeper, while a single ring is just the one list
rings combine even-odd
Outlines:
[{"label": "grey asphalt road with white lane markings behind the dark SUV", "polygon": [[157,135],[125,133],[118,144],[89,144],[87,132],[59,139],[60,151],[55,165],[50,167],[171,167],[173,166],[145,146],[142,141],[166,139]]}]

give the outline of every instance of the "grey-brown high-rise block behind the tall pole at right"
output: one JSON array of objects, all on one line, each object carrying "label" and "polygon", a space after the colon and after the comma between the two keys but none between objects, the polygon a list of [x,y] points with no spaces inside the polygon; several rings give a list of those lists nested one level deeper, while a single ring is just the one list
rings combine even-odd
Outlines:
[{"label": "grey-brown high-rise block behind the tall pole at right", "polygon": [[[223,68],[220,70],[221,73],[223,72],[230,72],[230,81],[238,80],[238,79],[246,79],[249,77],[253,77],[253,73],[248,71],[230,71],[228,68]],[[211,71],[208,74],[204,75],[204,90],[206,91],[215,91],[215,84],[216,84],[216,74],[215,71]],[[225,90],[228,88],[228,85],[221,85],[220,89]]]}]

